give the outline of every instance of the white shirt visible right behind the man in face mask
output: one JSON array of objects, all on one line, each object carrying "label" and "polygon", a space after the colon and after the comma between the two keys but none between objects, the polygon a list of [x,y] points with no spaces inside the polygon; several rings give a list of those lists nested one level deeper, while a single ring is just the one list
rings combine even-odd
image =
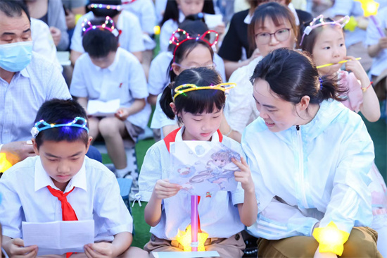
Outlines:
[{"label": "white shirt visible right behind the man in face mask", "polygon": [[31,18],[32,51],[44,56],[61,71],[63,67],[56,57],[56,46],[51,36],[49,25],[42,20]]}]

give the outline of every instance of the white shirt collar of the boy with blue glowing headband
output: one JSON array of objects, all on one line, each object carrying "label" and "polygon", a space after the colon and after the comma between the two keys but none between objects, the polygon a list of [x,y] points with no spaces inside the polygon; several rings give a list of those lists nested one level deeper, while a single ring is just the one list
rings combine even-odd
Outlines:
[{"label": "white shirt collar of the boy with blue glowing headband", "polygon": [[[80,171],[70,179],[65,192],[69,192],[73,187],[82,188],[87,191],[86,168],[84,163],[85,161],[83,161]],[[45,188],[47,185],[50,185],[53,189],[60,190],[53,184],[53,180],[43,168],[41,159],[38,158],[35,163],[34,190],[36,192],[37,190]]]}]

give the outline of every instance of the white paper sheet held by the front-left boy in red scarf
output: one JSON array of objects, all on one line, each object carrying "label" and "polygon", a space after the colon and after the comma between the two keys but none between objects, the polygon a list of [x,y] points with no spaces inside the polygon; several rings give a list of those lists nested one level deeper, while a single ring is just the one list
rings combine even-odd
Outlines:
[{"label": "white paper sheet held by the front-left boy in red scarf", "polygon": [[23,222],[25,246],[37,245],[37,255],[84,252],[84,245],[94,243],[94,221]]}]

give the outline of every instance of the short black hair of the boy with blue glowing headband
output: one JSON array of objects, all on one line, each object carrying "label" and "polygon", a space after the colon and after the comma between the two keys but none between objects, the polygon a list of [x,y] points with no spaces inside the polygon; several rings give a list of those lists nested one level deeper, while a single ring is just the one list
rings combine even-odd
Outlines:
[{"label": "short black hair of the boy with blue glowing headband", "polygon": [[[44,102],[39,108],[35,123],[41,120],[44,120],[46,123],[54,124],[70,123],[77,116],[87,119],[86,111],[75,100],[51,99]],[[87,127],[89,127],[89,125],[87,125]],[[87,145],[89,134],[84,128],[64,126],[42,130],[35,138],[38,149],[44,141],[61,142],[63,140],[68,142],[82,141]]]}]

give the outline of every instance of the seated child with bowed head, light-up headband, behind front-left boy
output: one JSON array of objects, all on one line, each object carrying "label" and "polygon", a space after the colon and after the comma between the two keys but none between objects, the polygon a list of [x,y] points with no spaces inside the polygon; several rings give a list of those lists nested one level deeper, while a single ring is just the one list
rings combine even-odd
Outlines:
[{"label": "seated child with bowed head, light-up headband, behind front-left boy", "polygon": [[151,114],[151,106],[145,101],[148,90],[144,70],[131,53],[119,47],[118,29],[108,16],[84,21],[82,32],[86,53],[75,63],[70,93],[85,109],[91,99],[120,99],[115,116],[91,117],[89,124],[91,137],[102,135],[116,176],[122,178],[131,172],[124,143],[134,147]]}]

